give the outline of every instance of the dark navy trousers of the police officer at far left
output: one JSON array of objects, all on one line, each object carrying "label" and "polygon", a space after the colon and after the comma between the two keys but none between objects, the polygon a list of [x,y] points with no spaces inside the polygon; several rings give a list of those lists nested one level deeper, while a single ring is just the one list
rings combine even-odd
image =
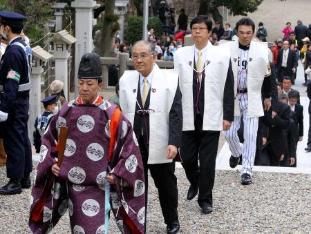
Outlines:
[{"label": "dark navy trousers of the police officer at far left", "polygon": [[17,98],[8,113],[8,119],[0,123],[8,178],[26,177],[32,171],[32,153],[28,138],[29,100]]}]

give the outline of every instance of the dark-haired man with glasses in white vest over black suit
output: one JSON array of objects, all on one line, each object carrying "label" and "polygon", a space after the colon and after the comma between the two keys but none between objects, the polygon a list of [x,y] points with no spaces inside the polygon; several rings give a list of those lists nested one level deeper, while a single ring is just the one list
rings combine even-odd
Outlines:
[{"label": "dark-haired man with glasses in white vest over black suit", "polygon": [[[190,187],[187,199],[198,194],[202,213],[211,213],[215,164],[221,130],[234,120],[234,77],[229,50],[211,45],[212,22],[198,16],[190,23],[194,46],[179,48],[174,56],[182,92],[180,157]],[[200,166],[198,166],[198,158]]]}]

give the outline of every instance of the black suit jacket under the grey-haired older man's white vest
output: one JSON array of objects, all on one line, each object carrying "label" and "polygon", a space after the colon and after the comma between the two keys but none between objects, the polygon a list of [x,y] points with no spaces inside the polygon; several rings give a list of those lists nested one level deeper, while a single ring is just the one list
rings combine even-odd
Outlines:
[{"label": "black suit jacket under the grey-haired older man's white vest", "polygon": [[[146,102],[144,104],[144,107],[142,106],[142,97],[140,95],[140,84],[138,82],[138,94],[137,94],[137,101],[142,107],[142,110],[149,110],[150,105],[150,89],[149,93],[146,99]],[[180,146],[180,140],[182,135],[182,102],[181,102],[181,92],[179,85],[177,86],[176,95],[173,100],[173,104],[171,106],[171,110],[169,112],[169,142],[168,145],[174,145],[179,147]],[[140,106],[138,106],[136,102],[135,107],[135,117],[134,117],[134,124],[133,124],[133,130],[136,135],[136,138],[138,141],[140,141],[140,137],[143,137],[144,143],[146,146],[149,146],[149,113],[145,113],[144,115],[142,113],[138,114],[138,110],[140,109]],[[142,134],[143,133],[143,134]],[[148,148],[148,147],[147,147]]]}]

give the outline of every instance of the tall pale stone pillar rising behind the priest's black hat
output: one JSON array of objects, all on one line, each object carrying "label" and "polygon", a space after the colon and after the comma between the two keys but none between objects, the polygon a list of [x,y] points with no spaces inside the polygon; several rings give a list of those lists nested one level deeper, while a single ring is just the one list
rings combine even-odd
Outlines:
[{"label": "tall pale stone pillar rising behind the priest's black hat", "polygon": [[96,1],[75,0],[71,7],[75,8],[75,97],[77,97],[77,72],[82,56],[92,51],[93,8]]}]

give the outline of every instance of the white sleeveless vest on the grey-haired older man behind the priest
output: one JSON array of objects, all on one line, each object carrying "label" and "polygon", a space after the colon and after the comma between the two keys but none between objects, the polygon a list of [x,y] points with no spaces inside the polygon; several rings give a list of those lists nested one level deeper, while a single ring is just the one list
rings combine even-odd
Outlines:
[{"label": "white sleeveless vest on the grey-haired older man behind the priest", "polygon": [[[134,126],[139,73],[126,70],[120,78],[120,107],[122,113]],[[149,158],[148,164],[172,162],[167,159],[169,142],[169,112],[178,86],[178,73],[173,69],[161,70],[154,64],[150,90],[149,109]]]}]

